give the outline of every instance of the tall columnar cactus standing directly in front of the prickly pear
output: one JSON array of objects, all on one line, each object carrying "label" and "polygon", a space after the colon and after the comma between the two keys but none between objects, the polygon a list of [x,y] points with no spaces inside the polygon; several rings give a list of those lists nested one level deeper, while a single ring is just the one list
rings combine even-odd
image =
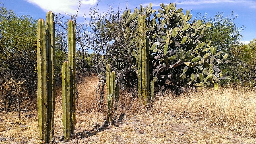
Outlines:
[{"label": "tall columnar cactus standing directly in front of the prickly pear", "polygon": [[146,38],[146,15],[138,16],[138,95],[144,105],[149,101],[149,47]]}]

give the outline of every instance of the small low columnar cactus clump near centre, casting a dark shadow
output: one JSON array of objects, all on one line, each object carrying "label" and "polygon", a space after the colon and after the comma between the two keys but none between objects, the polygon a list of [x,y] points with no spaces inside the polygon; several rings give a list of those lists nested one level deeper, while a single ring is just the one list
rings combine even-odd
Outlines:
[{"label": "small low columnar cactus clump near centre, casting a dark shadow", "polygon": [[119,101],[119,86],[115,85],[115,72],[111,72],[110,64],[107,63],[106,68],[107,77],[107,108],[108,108],[108,120],[110,125],[112,121],[116,119],[116,112]]}]

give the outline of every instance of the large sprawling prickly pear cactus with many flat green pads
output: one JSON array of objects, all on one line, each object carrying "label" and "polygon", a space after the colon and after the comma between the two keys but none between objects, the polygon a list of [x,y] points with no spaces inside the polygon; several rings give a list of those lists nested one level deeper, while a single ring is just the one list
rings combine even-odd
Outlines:
[{"label": "large sprawling prickly pear cactus with many flat green pads", "polygon": [[[160,6],[158,12],[150,4],[133,13],[125,11],[121,16],[123,23],[130,24],[125,29],[130,33],[140,27],[139,15],[146,16],[150,76],[156,78],[155,84],[171,89],[215,85],[217,89],[218,81],[226,78],[217,65],[229,61],[225,60],[227,55],[205,39],[205,31],[212,24],[191,20],[189,10],[184,13],[174,3]],[[138,47],[132,51],[136,58]]]}]

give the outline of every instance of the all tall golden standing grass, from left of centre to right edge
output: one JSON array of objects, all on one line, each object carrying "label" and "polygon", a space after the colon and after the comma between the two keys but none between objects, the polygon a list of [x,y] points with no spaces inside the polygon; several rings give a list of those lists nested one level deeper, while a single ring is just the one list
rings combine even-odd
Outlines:
[{"label": "all tall golden standing grass, from left of centre to right edge", "polygon": [[[97,80],[96,77],[87,77],[78,86],[77,108],[80,112],[98,109],[95,99]],[[136,91],[120,91],[120,110],[133,113],[146,111],[135,93],[137,94]],[[149,112],[171,115],[177,119],[185,118],[193,122],[208,119],[212,126],[224,126],[240,135],[256,137],[256,91],[239,86],[222,87],[218,91],[191,90],[179,95],[170,91],[158,93]]]}]

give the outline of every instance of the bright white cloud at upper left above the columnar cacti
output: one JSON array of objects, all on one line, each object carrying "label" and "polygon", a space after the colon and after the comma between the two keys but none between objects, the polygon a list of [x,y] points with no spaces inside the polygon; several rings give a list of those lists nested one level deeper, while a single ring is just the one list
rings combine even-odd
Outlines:
[{"label": "bright white cloud at upper left above the columnar cacti", "polygon": [[[25,0],[29,3],[39,6],[45,11],[53,11],[61,14],[75,14],[81,0]],[[83,16],[88,11],[90,5],[97,3],[98,0],[82,0],[79,16]]]}]

